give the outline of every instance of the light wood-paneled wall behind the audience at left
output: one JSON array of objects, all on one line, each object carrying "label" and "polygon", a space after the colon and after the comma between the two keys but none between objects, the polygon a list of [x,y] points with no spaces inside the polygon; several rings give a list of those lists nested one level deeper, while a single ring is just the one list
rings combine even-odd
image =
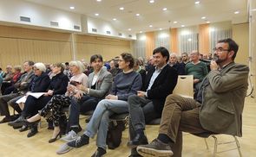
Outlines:
[{"label": "light wood-paneled wall behind the audience at left", "polygon": [[89,35],[73,37],[74,48],[71,33],[0,25],[0,67],[22,65],[25,60],[66,62],[74,60],[74,57],[75,60],[89,62],[95,53],[102,54],[104,60],[110,60],[122,52],[132,53],[130,41]]}]

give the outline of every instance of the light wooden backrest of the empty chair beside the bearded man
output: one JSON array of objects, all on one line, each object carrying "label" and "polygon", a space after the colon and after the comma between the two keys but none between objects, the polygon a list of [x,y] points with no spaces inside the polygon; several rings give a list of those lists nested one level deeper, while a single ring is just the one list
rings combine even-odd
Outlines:
[{"label": "light wooden backrest of the empty chair beside the bearded man", "polygon": [[182,97],[194,97],[193,75],[179,75],[173,93]]}]

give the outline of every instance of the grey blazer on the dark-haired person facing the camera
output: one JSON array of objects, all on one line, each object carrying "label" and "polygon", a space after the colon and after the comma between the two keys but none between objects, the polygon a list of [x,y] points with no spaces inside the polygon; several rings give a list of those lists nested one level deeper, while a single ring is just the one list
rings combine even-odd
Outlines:
[{"label": "grey blazer on the dark-haired person facing the camera", "polygon": [[107,96],[112,86],[112,74],[102,69],[95,83],[96,84],[95,90],[91,89],[94,76],[95,76],[95,72],[91,72],[89,74],[89,79],[88,79],[89,96],[98,97],[98,98],[103,98]]}]

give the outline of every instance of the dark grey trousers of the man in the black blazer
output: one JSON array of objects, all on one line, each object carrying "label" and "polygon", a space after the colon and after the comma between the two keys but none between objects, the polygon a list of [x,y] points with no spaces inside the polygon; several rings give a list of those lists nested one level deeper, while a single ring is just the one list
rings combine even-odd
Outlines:
[{"label": "dark grey trousers of the man in the black blazer", "polygon": [[[145,97],[128,97],[129,110],[129,137],[135,138],[135,131],[145,129],[145,124],[161,117],[160,113],[154,110],[153,102]],[[131,150],[131,154],[138,154],[136,148]]]}]

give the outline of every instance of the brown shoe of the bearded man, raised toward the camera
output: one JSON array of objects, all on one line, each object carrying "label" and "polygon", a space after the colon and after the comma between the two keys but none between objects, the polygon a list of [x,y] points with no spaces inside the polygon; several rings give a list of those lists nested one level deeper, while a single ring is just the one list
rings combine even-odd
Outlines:
[{"label": "brown shoe of the bearded man, raised toward the camera", "polygon": [[170,157],[174,153],[171,147],[168,144],[159,141],[158,139],[154,139],[148,145],[141,145],[137,147],[137,152],[144,157],[151,157],[151,156],[166,156]]}]

